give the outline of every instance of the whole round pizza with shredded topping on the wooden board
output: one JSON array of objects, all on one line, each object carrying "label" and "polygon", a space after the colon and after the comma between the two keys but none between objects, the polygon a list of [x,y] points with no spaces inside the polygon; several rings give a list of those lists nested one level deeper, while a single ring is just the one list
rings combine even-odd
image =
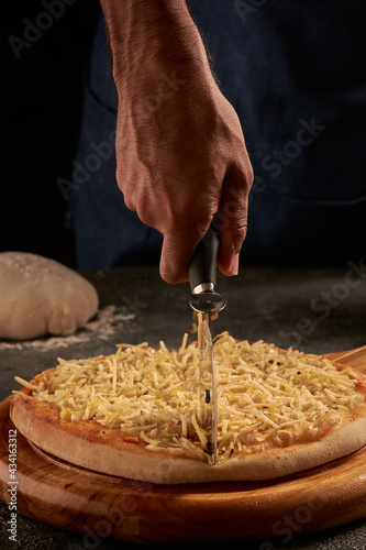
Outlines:
[{"label": "whole round pizza with shredded topping on the wooden board", "polygon": [[214,339],[218,455],[200,427],[197,343],[118,344],[111,355],[59,359],[14,392],[11,419],[71,464],[162,484],[271,480],[366,443],[366,376],[263,341]]}]

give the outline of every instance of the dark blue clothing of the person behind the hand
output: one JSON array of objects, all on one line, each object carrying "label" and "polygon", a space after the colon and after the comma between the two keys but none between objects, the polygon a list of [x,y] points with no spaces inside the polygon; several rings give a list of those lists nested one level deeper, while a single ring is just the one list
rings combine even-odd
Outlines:
[{"label": "dark blue clothing of the person behind the hand", "polygon": [[[255,180],[242,258],[346,262],[365,254],[366,2],[191,0],[225,97],[242,122]],[[96,36],[79,169],[112,142],[117,96]],[[90,163],[89,163],[90,164]],[[87,170],[88,172],[88,170]],[[75,183],[80,176],[75,172]],[[123,202],[114,158],[71,194],[80,267],[157,263],[160,238]]]}]

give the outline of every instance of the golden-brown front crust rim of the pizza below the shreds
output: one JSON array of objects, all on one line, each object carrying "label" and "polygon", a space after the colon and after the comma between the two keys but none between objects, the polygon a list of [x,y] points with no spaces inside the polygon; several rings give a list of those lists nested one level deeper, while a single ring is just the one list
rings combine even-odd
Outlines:
[{"label": "golden-brown front crust rim of the pizza below the shreds", "polygon": [[[332,429],[323,439],[258,454],[240,453],[212,466],[162,449],[123,441],[98,422],[60,422],[58,407],[22,391],[11,403],[14,426],[42,450],[73,464],[110,475],[159,484],[263,481],[282,477],[346,457],[366,444],[366,418]],[[26,395],[27,394],[27,395]]]}]

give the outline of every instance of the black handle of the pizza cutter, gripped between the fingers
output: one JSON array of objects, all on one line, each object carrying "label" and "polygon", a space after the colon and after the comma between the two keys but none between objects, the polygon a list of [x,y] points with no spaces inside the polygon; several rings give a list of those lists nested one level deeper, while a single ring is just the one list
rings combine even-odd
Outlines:
[{"label": "black handle of the pizza cutter, gripped between the fingers", "polygon": [[198,243],[188,266],[188,277],[191,293],[200,285],[217,285],[217,263],[220,249],[219,232],[210,227],[203,239]]}]

